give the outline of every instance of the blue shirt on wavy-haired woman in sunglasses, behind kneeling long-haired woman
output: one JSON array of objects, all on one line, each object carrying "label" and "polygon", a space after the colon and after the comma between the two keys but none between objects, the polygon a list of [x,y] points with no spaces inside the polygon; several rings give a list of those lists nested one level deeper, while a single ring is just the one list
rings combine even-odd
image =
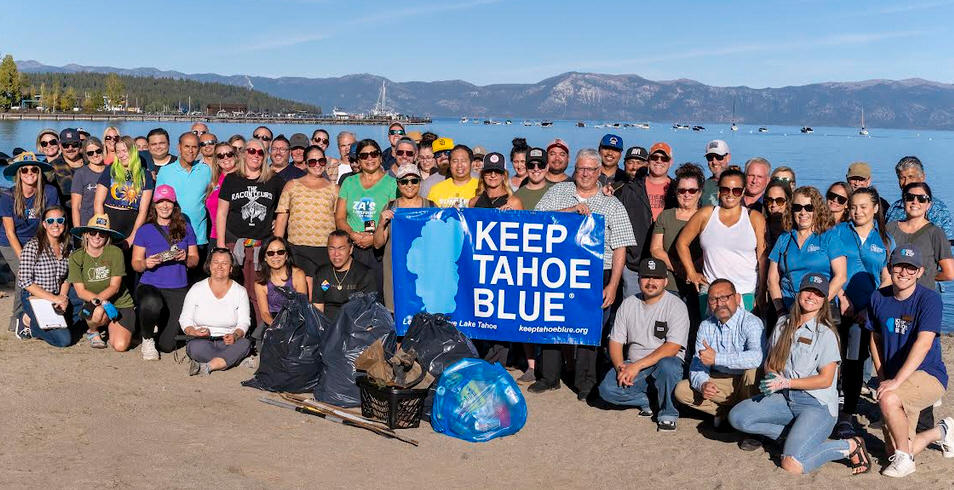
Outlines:
[{"label": "blue shirt on wavy-haired woman in sunglasses, behind kneeling long-haired woman", "polygon": [[798,285],[805,274],[816,272],[831,279],[831,261],[845,255],[839,241],[832,240],[833,231],[821,235],[812,233],[801,247],[798,246],[796,230],[778,237],[769,260],[778,264],[779,285],[786,308],[791,308],[795,302]]}]

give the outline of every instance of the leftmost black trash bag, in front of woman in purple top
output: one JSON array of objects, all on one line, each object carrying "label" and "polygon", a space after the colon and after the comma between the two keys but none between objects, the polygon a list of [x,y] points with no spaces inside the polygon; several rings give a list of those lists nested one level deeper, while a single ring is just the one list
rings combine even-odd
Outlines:
[{"label": "leftmost black trash bag, in front of woman in purple top", "polygon": [[255,377],[242,385],[275,392],[310,392],[321,377],[322,339],[331,329],[331,320],[304,294],[278,290],[289,299],[265,330]]}]

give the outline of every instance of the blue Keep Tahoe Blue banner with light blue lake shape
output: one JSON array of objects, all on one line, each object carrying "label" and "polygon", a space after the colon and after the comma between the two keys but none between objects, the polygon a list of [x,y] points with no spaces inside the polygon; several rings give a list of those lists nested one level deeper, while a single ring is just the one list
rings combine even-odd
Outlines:
[{"label": "blue Keep Tahoe Blue banner with light blue lake shape", "polygon": [[599,345],[603,217],[398,209],[391,222],[399,335],[422,311],[472,339]]}]

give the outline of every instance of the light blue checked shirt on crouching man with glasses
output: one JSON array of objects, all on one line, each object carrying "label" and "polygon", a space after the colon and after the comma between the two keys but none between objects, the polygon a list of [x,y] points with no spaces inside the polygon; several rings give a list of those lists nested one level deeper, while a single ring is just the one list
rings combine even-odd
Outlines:
[{"label": "light blue checked shirt on crouching man with glasses", "polygon": [[[716,351],[715,364],[706,366],[699,359],[707,342]],[[709,372],[737,375],[762,364],[765,353],[765,326],[762,320],[739,305],[729,321],[721,323],[714,315],[699,325],[696,334],[696,353],[689,365],[689,384],[702,391],[709,381]]]}]

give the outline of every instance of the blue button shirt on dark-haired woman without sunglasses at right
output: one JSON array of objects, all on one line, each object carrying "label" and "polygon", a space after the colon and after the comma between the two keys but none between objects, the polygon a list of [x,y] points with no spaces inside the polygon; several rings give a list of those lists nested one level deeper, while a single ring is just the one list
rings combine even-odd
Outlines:
[{"label": "blue button shirt on dark-haired woman without sunglasses at right", "polygon": [[855,311],[861,311],[868,306],[871,293],[881,285],[881,270],[888,266],[888,254],[894,249],[894,238],[889,235],[888,250],[885,250],[877,223],[864,242],[855,231],[855,224],[850,221],[840,223],[831,233],[831,243],[840,247],[848,266],[845,296],[848,296]]}]

